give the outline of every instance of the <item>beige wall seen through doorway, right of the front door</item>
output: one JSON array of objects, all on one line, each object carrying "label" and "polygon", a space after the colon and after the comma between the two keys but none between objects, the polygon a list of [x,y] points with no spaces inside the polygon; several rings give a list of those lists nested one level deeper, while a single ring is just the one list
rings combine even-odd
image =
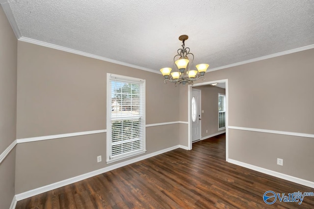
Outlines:
[{"label": "beige wall seen through doorway, right of the front door", "polygon": [[[204,113],[201,113],[202,118],[202,138],[218,132],[218,93],[226,93],[225,89],[212,85],[194,87],[201,90],[201,106]],[[194,89],[193,88],[193,89]],[[208,130],[208,133],[206,133]]]}]

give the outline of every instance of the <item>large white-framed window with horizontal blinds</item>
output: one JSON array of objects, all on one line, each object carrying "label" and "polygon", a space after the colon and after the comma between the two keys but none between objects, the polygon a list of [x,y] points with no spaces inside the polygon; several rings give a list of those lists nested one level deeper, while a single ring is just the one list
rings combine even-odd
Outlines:
[{"label": "large white-framed window with horizontal blinds", "polygon": [[107,163],[145,151],[145,80],[107,73]]}]

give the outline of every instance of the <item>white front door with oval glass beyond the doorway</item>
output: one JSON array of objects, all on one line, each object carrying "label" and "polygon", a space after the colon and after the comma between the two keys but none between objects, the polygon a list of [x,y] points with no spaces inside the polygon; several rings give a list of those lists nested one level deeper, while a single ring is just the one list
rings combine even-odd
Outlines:
[{"label": "white front door with oval glass beyond the doorway", "polygon": [[201,90],[192,89],[191,96],[192,142],[201,139]]}]

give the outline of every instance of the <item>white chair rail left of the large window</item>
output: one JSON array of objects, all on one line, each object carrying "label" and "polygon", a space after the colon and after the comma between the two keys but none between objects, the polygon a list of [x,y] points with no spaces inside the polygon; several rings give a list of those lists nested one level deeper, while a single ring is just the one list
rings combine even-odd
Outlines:
[{"label": "white chair rail left of the large window", "polygon": [[69,133],[69,134],[58,134],[58,135],[50,135],[50,136],[43,136],[43,137],[31,137],[31,138],[25,138],[25,139],[17,139],[18,143],[25,143],[25,142],[31,142],[31,141],[41,141],[41,140],[48,140],[48,139],[59,139],[59,138],[66,138],[66,137],[76,137],[76,136],[82,136],[82,135],[89,135],[89,134],[99,134],[99,133],[105,133],[107,130],[95,130],[95,131],[83,131],[83,132],[75,132],[75,133]]}]

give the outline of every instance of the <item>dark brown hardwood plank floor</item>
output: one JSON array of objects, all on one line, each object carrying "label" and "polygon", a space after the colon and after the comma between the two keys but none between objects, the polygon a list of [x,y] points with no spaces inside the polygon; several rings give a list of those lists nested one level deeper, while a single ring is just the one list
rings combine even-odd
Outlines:
[{"label": "dark brown hardwood plank floor", "polygon": [[314,197],[265,204],[268,190],[314,189],[227,163],[225,155],[223,134],[19,201],[16,209],[314,209]]}]

